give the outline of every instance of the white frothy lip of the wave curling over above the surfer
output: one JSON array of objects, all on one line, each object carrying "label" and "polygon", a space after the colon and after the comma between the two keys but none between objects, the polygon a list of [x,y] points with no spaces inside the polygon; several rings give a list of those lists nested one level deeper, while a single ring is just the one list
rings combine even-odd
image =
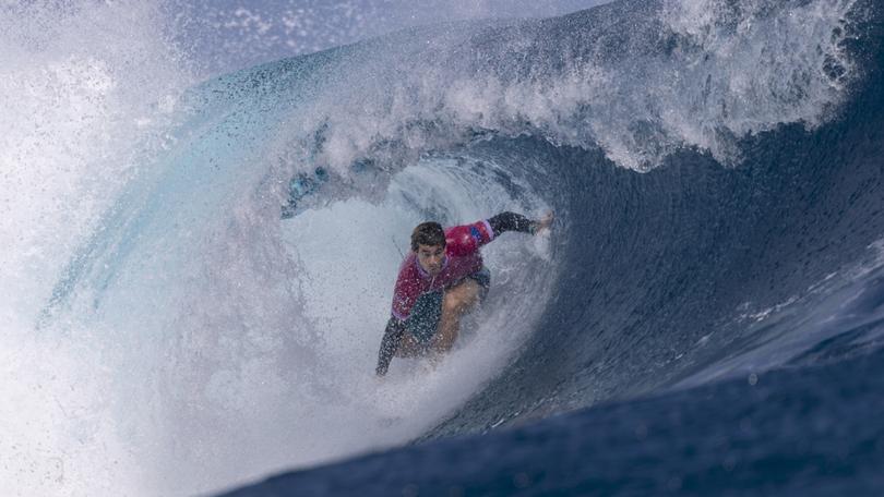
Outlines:
[{"label": "white frothy lip of the wave curling over above the surfer", "polygon": [[623,1],[350,47],[346,70],[298,109],[311,130],[303,145],[335,170],[476,133],[600,147],[643,171],[690,147],[736,163],[740,138],[825,122],[859,77],[845,49],[855,2],[750,5]]}]

